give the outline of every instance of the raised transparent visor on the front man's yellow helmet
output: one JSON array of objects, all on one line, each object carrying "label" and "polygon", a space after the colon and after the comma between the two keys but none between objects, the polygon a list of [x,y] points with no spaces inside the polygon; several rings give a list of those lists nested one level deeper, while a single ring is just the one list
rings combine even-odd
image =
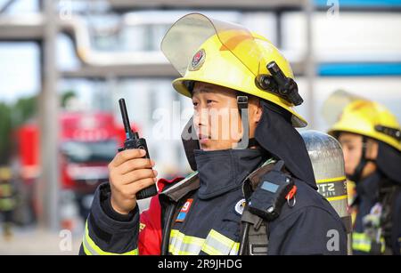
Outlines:
[{"label": "raised transparent visor on the front man's yellow helmet", "polygon": [[263,54],[250,31],[233,23],[209,19],[200,13],[190,13],[177,20],[164,36],[161,51],[184,76],[193,54],[215,35],[225,50],[232,52],[254,76],[258,76]]}]

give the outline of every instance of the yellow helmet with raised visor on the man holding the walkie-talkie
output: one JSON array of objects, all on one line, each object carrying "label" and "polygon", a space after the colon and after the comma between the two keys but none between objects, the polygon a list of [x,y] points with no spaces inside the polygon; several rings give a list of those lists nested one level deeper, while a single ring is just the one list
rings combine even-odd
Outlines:
[{"label": "yellow helmet with raised visor on the man holding the walkie-talkie", "polygon": [[259,76],[272,75],[266,65],[273,61],[284,76],[294,78],[289,61],[265,37],[235,24],[191,13],[168,30],[161,50],[181,74],[173,86],[184,96],[191,98],[190,83],[217,84],[271,101],[291,113],[293,126],[307,125],[291,100],[258,84]]}]

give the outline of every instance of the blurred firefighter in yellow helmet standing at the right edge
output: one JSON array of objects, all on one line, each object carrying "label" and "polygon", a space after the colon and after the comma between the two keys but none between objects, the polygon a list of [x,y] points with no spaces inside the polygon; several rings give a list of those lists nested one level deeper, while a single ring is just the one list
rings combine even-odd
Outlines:
[{"label": "blurred firefighter in yellow helmet standing at the right edge", "polygon": [[351,206],[356,213],[353,253],[399,255],[400,125],[396,116],[377,102],[347,92],[341,96],[349,102],[329,133],[340,141],[348,180],[356,184]]}]

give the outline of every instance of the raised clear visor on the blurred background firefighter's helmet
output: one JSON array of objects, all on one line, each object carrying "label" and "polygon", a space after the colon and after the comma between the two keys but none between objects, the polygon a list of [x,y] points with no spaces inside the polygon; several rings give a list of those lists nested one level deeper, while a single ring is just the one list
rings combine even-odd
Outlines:
[{"label": "raised clear visor on the blurred background firefighter's helmet", "polygon": [[339,118],[344,108],[348,106],[349,103],[356,100],[366,100],[364,97],[357,96],[355,94],[338,90],[333,92],[327,100],[323,102],[323,118],[331,127],[335,124]]}]

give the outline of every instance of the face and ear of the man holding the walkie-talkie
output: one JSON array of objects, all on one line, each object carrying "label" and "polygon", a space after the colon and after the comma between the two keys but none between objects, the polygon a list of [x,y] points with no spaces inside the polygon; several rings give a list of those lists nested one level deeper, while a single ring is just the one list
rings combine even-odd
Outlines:
[{"label": "face and ear of the man holding the walkie-talkie", "polygon": [[[193,124],[201,149],[233,149],[242,137],[241,116],[235,91],[197,82],[192,92]],[[261,116],[258,101],[249,103],[250,137]]]}]

